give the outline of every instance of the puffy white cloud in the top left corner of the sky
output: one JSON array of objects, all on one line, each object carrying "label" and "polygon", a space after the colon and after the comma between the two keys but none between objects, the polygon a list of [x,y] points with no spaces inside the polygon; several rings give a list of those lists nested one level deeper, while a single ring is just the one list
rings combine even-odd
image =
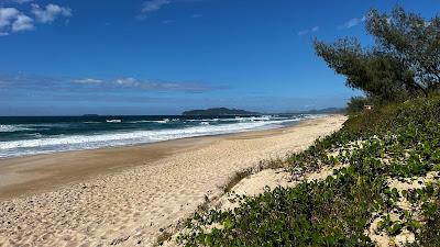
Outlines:
[{"label": "puffy white cloud in the top left corner of the sky", "polygon": [[[29,0],[15,0],[15,3],[29,3]],[[38,4],[32,3],[31,13],[24,13],[16,8],[0,8],[0,36],[7,36],[11,33],[31,31],[35,29],[35,21],[40,23],[52,23],[58,16],[72,16],[72,10],[57,4],[47,4],[40,8]],[[33,16],[32,16],[33,15]]]}]

